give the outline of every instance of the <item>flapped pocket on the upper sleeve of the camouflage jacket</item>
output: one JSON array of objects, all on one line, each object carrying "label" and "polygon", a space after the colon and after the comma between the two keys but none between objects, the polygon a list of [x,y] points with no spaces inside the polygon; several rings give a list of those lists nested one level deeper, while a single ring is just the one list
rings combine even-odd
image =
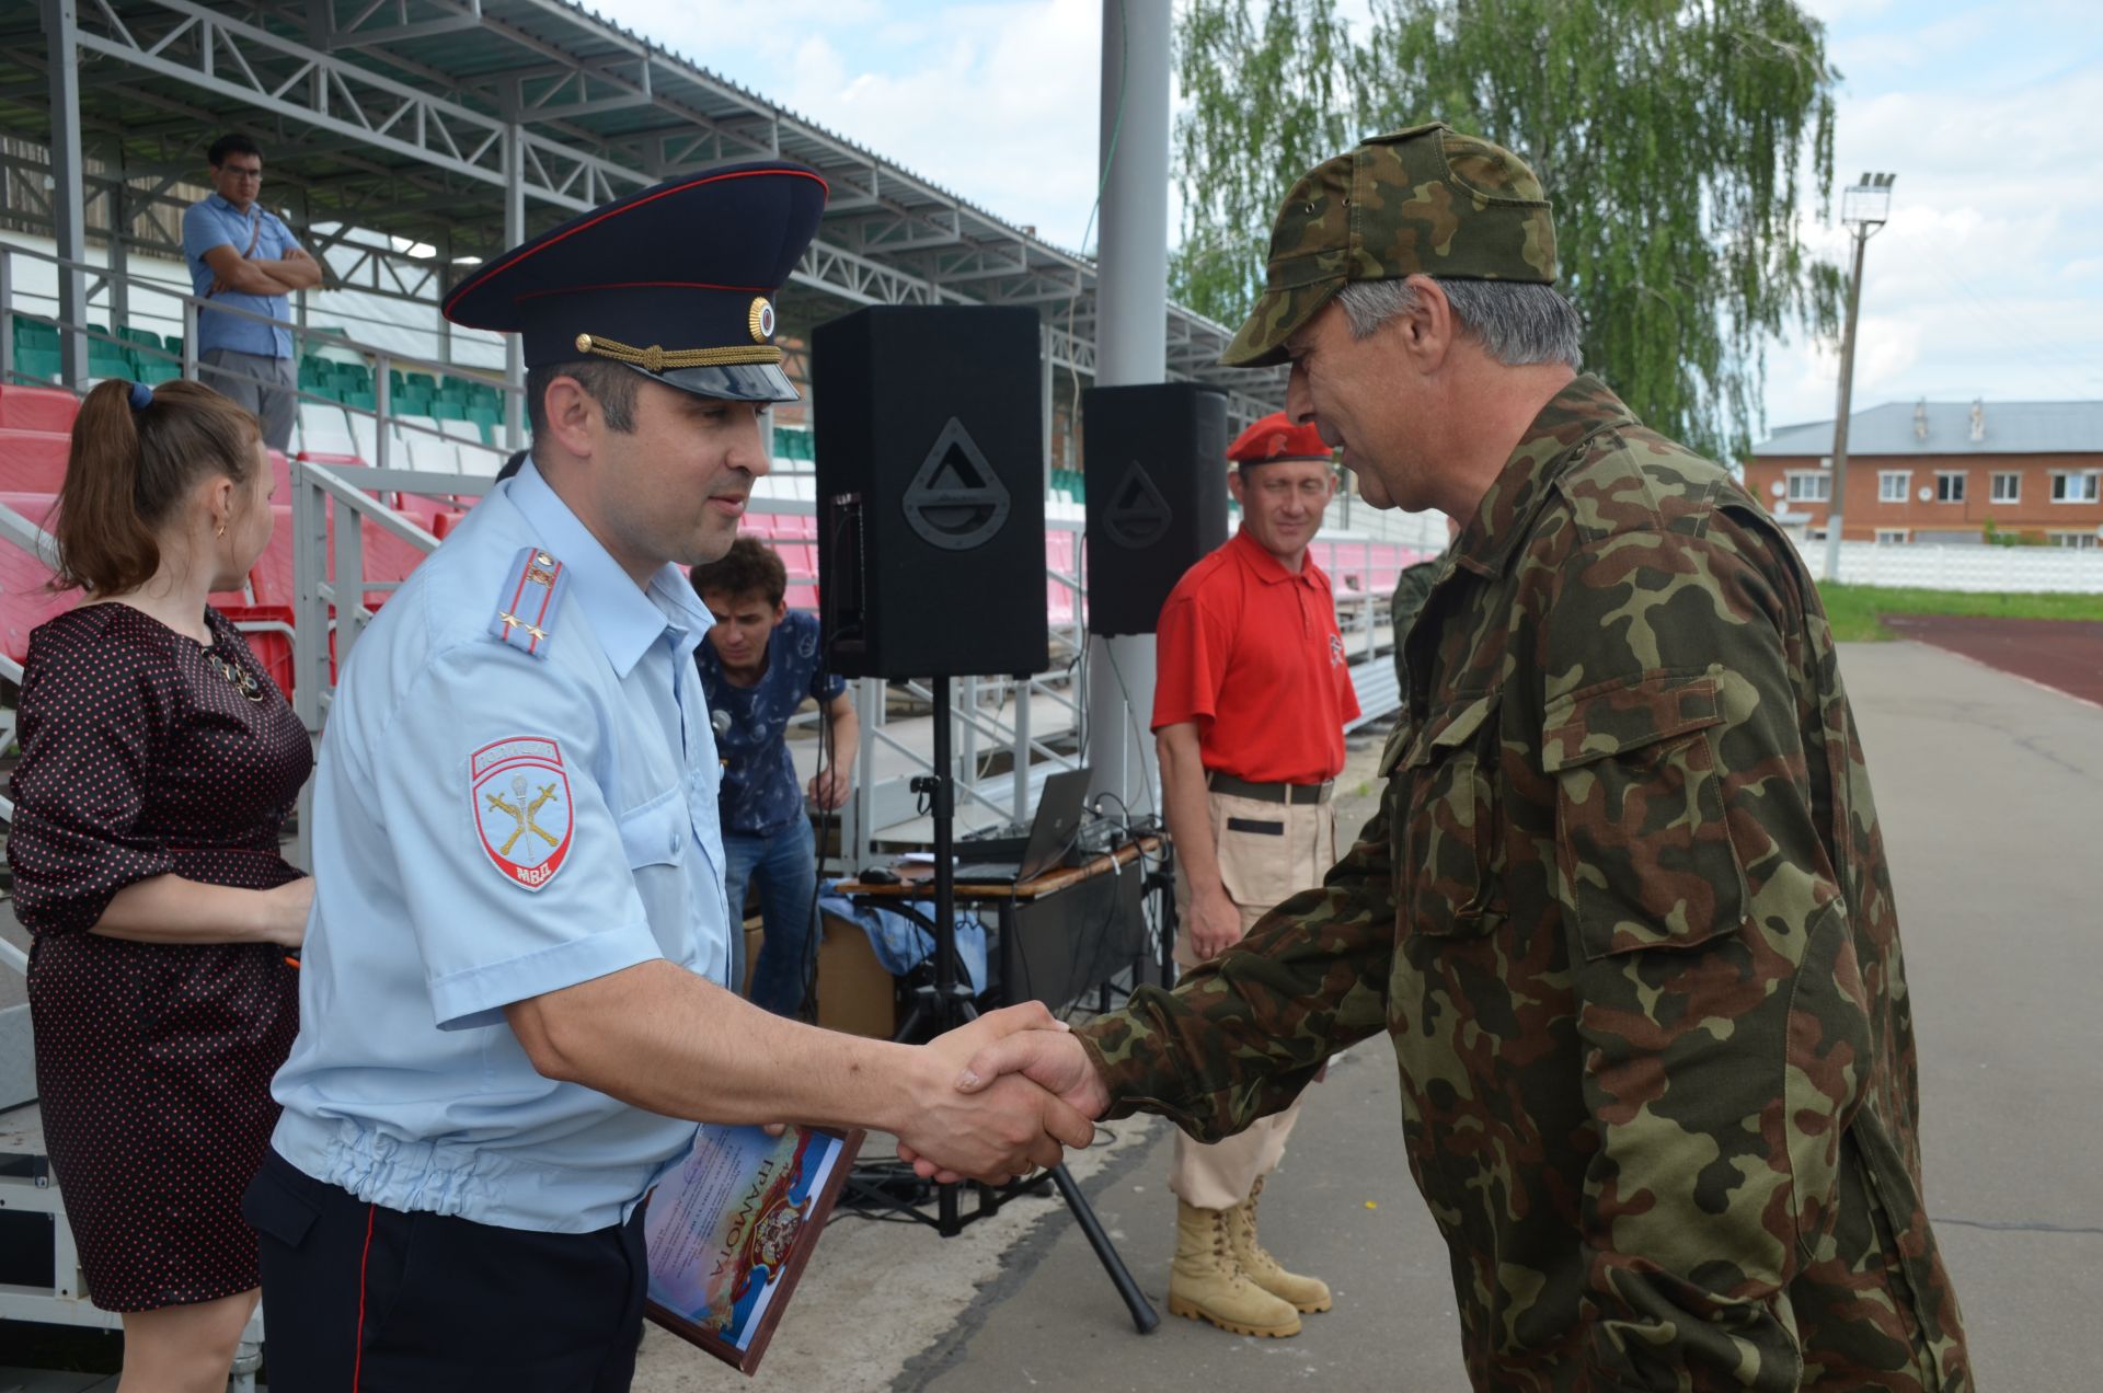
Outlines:
[{"label": "flapped pocket on the upper sleeve of the camouflage jacket", "polygon": [[1548,703],[1556,871],[1586,957],[1693,947],[1745,917],[1722,810],[1718,673],[1647,673]]}]

